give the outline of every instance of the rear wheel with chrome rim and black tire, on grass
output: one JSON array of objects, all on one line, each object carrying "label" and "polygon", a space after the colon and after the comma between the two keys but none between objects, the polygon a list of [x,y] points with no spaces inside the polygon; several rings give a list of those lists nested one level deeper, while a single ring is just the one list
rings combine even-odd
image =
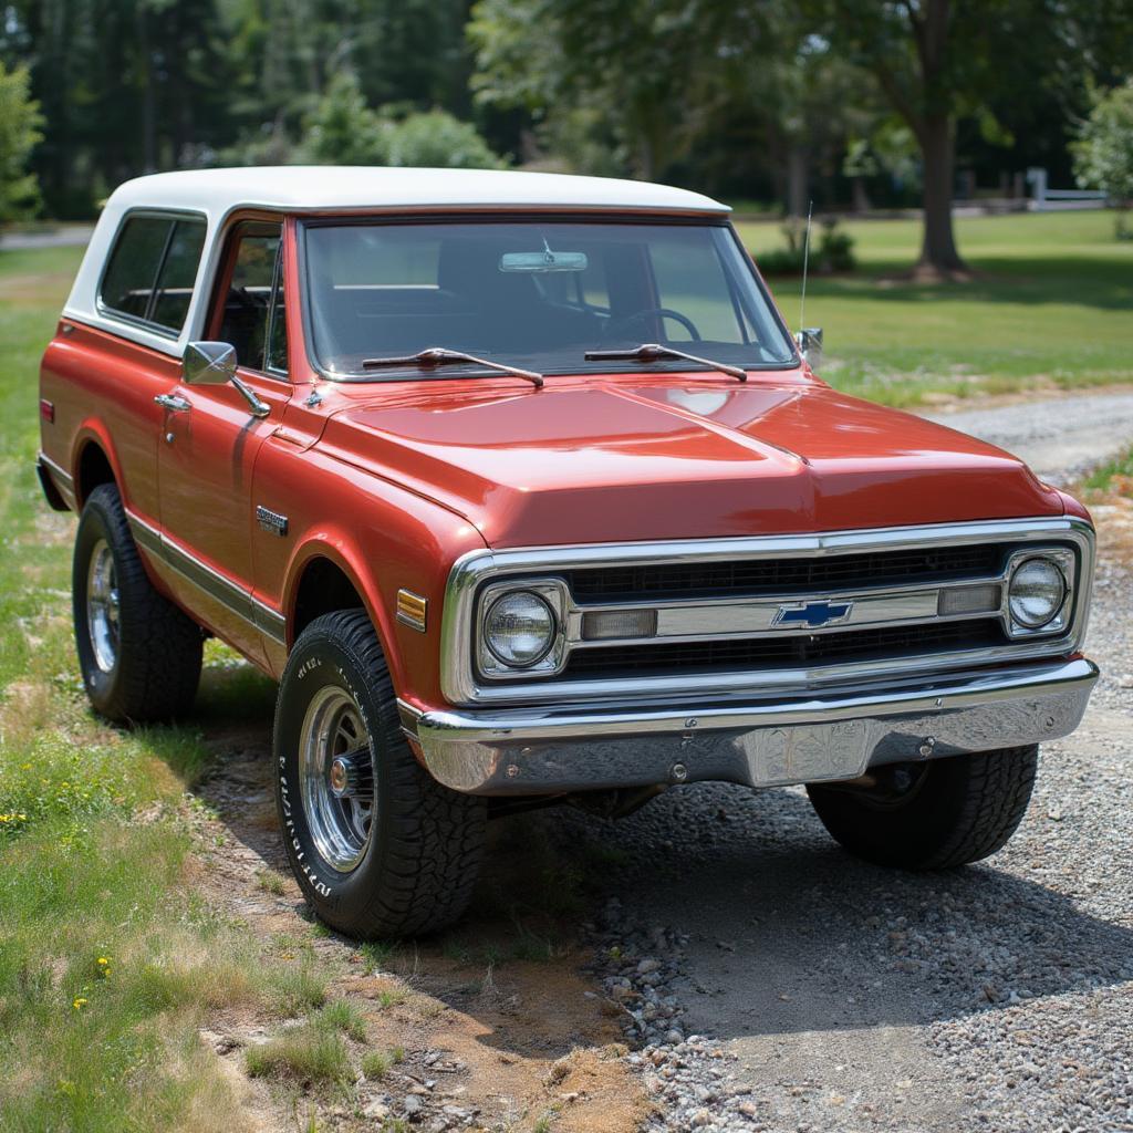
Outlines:
[{"label": "rear wheel with chrome rim and black tire, on grass", "polygon": [[71,595],[83,687],[96,713],[143,723],[193,707],[201,628],[153,588],[113,484],[100,484],[83,508]]}]

